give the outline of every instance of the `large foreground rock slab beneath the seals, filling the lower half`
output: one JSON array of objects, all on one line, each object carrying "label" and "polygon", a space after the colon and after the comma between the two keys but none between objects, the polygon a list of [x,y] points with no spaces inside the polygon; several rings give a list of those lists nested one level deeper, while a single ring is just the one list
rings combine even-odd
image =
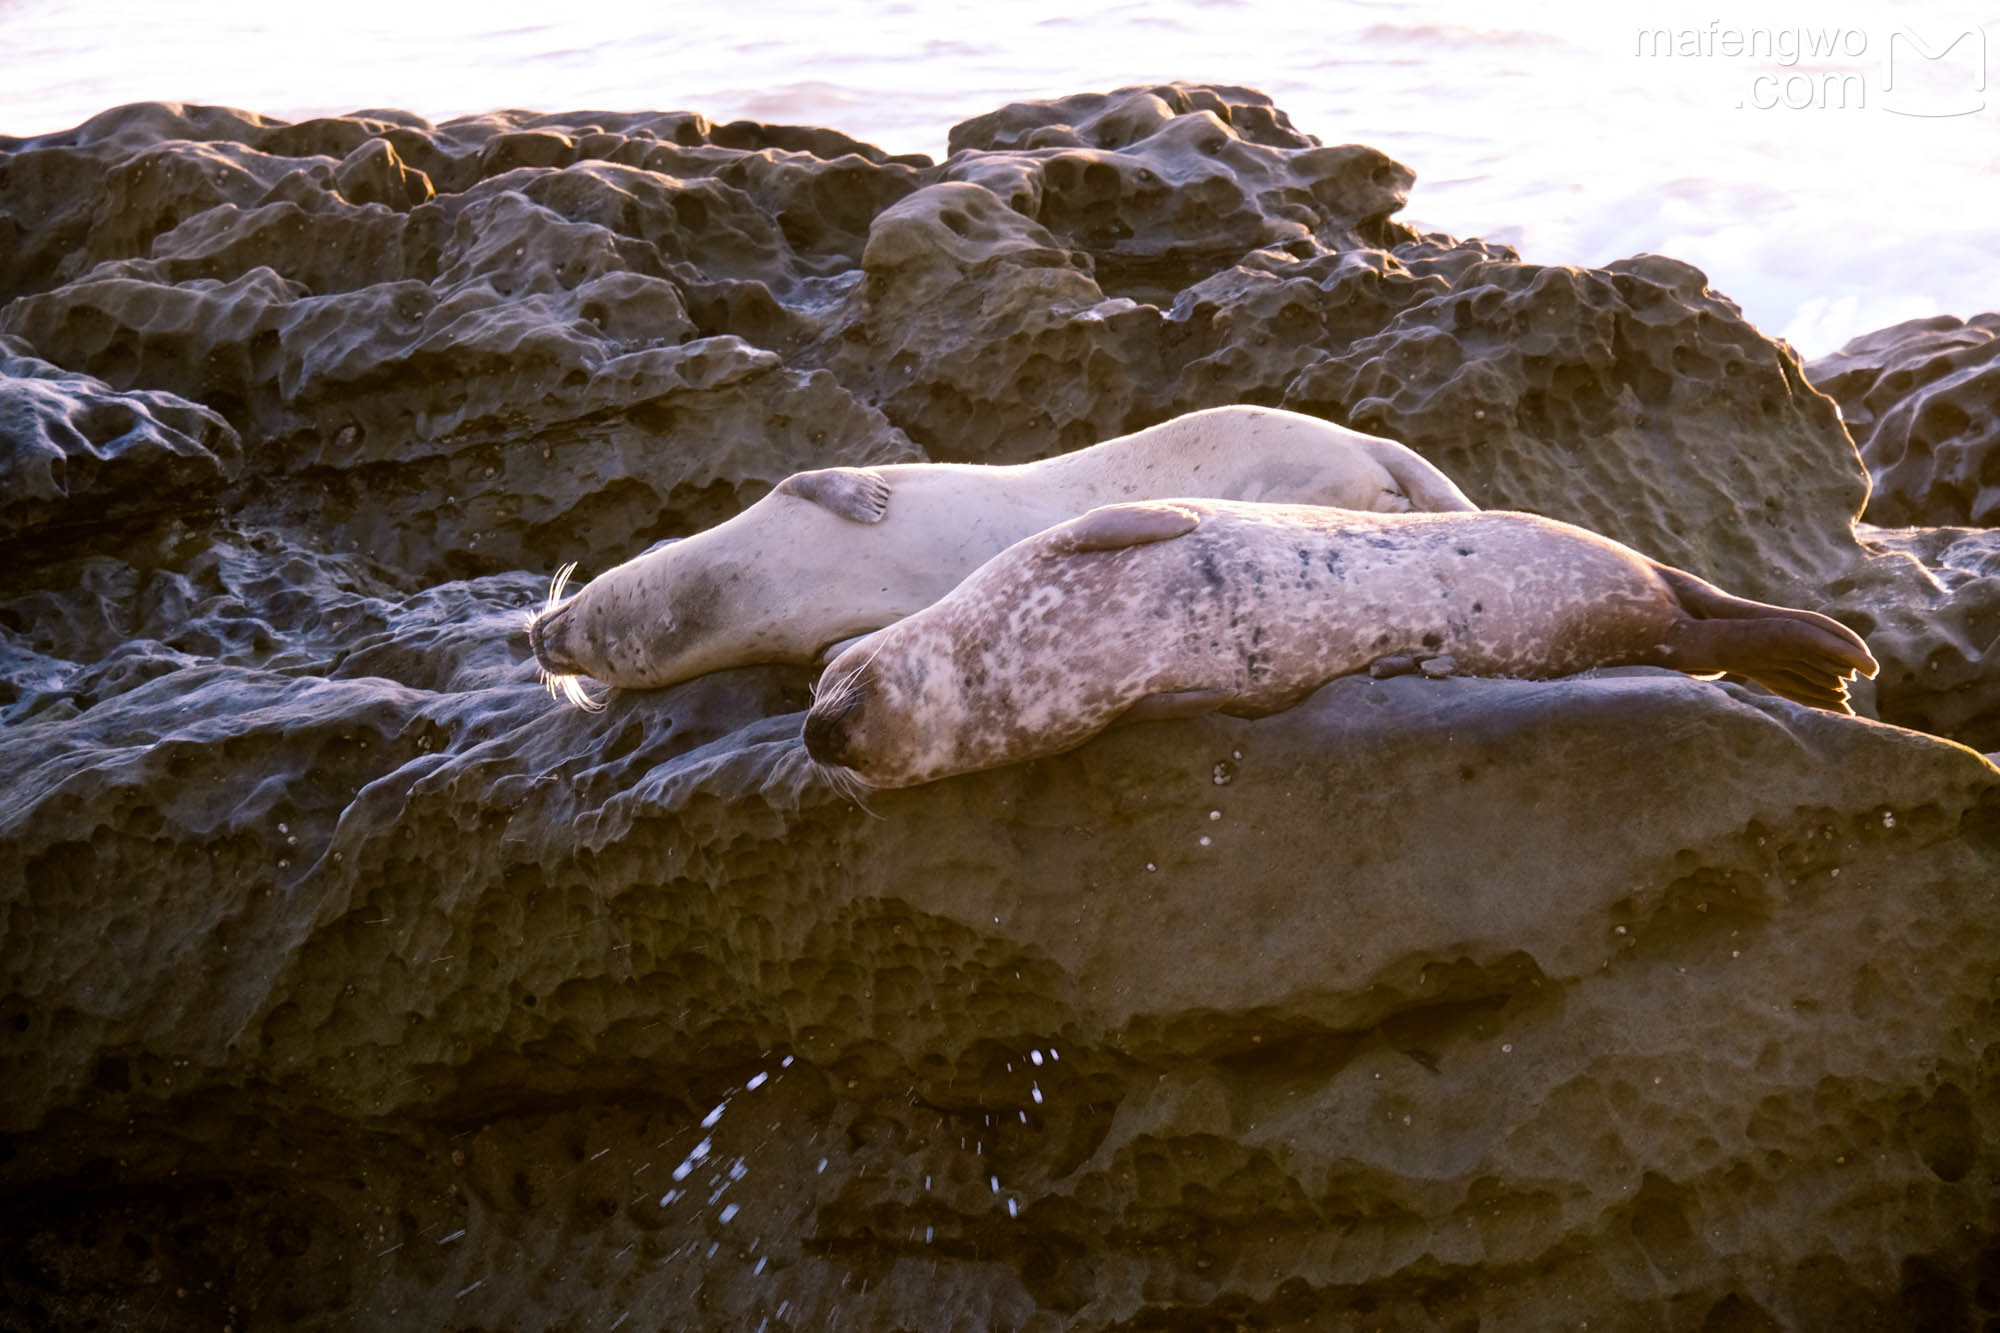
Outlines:
[{"label": "large foreground rock slab beneath the seals, filling the lower half", "polygon": [[[492,652],[496,592],[378,660]],[[200,666],[24,733],[44,1281],[250,1325],[1938,1327],[1992,1261],[1968,751],[1664,673],[1362,679],[868,815],[768,675],[478,683]]]}]

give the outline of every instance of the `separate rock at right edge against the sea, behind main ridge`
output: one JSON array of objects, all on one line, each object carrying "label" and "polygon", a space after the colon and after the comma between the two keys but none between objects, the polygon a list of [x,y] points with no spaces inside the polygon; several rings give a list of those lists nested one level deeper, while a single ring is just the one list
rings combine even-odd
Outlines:
[{"label": "separate rock at right edge against the sea, behind main ridge", "polygon": [[2000,314],[1880,328],[1806,374],[1860,444],[1870,522],[2000,524]]}]

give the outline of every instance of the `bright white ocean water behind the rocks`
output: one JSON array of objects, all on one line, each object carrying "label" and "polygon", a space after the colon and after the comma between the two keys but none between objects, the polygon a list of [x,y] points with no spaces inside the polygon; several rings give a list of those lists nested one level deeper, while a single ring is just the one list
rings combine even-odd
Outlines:
[{"label": "bright white ocean water behind the rocks", "polygon": [[[1816,356],[2000,308],[2000,22],[1972,6],[1474,0],[0,0],[0,134],[136,100],[296,120],[696,110],[944,154],[1018,98],[1262,88],[1418,174],[1402,214],[1546,264],[1688,260]],[[0,200],[4,206],[4,200]]]}]

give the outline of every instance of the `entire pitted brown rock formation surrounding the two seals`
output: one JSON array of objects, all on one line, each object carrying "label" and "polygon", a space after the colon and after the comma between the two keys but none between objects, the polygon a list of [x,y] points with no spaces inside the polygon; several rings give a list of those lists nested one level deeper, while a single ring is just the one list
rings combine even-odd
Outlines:
[{"label": "entire pitted brown rock formation surrounding the two seals", "polygon": [[1988,532],[1856,534],[1832,402],[1696,270],[1416,234],[1244,88],[950,150],[0,140],[0,1327],[2000,1317],[1972,749],[1350,679],[864,811],[802,671],[542,693],[562,560],[1250,400],[1828,608],[1864,711],[2000,751]]}]

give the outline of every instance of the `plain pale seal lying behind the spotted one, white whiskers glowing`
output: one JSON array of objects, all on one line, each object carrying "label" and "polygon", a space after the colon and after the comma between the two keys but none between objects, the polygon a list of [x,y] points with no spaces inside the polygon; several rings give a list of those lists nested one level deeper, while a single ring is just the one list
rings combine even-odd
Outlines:
[{"label": "plain pale seal lying behind the spotted one, white whiskers glowing", "polygon": [[902,462],[780,482],[530,618],[552,689],[660,687],[746,662],[812,662],[950,592],[1012,542],[1116,500],[1214,496],[1384,512],[1476,510],[1410,448],[1258,406],[1188,412],[1016,466]]}]

